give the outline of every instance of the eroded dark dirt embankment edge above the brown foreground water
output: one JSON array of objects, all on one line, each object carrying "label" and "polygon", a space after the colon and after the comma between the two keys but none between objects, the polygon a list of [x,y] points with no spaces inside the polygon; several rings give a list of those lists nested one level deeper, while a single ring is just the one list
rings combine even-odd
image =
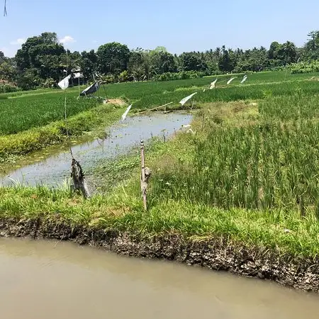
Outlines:
[{"label": "eroded dark dirt embankment edge above the brown foreground water", "polygon": [[168,259],[188,265],[223,270],[242,276],[276,281],[284,286],[318,293],[319,260],[295,260],[276,252],[227,245],[223,239],[184,240],[178,235],[140,239],[128,233],[70,227],[40,220],[0,220],[1,237],[33,237],[70,240],[118,254],[152,259]]}]

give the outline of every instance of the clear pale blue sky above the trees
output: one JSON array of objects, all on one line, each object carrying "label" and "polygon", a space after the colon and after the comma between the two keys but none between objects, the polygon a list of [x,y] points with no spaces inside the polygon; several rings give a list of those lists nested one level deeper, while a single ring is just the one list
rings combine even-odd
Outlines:
[{"label": "clear pale blue sky above the trees", "polygon": [[301,46],[319,29],[318,0],[6,0],[6,11],[0,50],[9,57],[43,32],[57,33],[72,51],[116,41],[180,54],[222,45],[268,48],[287,40]]}]

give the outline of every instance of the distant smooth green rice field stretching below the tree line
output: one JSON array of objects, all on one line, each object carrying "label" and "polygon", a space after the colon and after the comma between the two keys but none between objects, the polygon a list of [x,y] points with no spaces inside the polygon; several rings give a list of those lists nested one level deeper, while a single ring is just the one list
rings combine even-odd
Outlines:
[{"label": "distant smooth green rice field stretching below the tree line", "polygon": [[[164,103],[178,106],[185,96],[198,91],[195,103],[266,99],[269,96],[318,93],[318,82],[310,81],[319,74],[290,74],[289,72],[263,72],[249,74],[240,84],[243,74],[218,77],[217,89],[203,91],[216,77],[177,80],[169,82],[134,82],[109,84],[101,87],[99,96],[124,99],[133,103],[134,110],[145,110]],[[228,86],[230,77],[236,77]],[[81,88],[82,89],[82,88]],[[79,99],[79,88],[67,90],[67,114],[74,116],[96,106],[94,99]],[[59,89],[39,89],[0,94],[0,135],[18,133],[64,118],[65,92]]]}]

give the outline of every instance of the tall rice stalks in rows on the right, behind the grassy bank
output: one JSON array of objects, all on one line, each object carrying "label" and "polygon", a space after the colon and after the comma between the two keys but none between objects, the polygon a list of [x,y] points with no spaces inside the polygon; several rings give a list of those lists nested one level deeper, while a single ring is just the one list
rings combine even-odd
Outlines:
[{"label": "tall rice stalks in rows on the right, behind the grassy bank", "polygon": [[206,138],[194,137],[189,163],[166,167],[153,178],[153,201],[182,198],[227,209],[319,214],[318,102],[312,99],[269,99],[257,124],[208,128]]}]

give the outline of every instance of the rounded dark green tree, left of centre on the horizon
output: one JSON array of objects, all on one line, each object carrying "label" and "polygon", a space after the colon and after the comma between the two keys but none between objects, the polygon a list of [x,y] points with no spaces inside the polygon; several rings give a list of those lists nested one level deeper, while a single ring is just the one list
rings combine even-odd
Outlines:
[{"label": "rounded dark green tree, left of centre on the horizon", "polygon": [[128,68],[130,50],[121,43],[106,43],[101,45],[96,52],[99,70],[103,74],[120,74]]}]

